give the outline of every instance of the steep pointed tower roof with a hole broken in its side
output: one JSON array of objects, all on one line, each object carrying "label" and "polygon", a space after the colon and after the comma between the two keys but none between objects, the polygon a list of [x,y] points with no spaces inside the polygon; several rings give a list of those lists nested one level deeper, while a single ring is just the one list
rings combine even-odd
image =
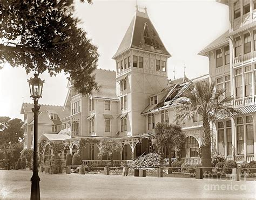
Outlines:
[{"label": "steep pointed tower roof with a hole broken in its side", "polygon": [[131,24],[112,59],[129,48],[142,49],[144,51],[171,56],[161,41],[156,28],[151,23],[146,8],[144,8],[144,11],[139,11],[137,8]]}]

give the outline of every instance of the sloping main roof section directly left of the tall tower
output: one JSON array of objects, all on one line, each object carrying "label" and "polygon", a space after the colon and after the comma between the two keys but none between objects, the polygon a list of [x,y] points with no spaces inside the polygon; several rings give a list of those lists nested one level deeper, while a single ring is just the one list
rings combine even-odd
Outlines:
[{"label": "sloping main roof section directly left of the tall tower", "polygon": [[99,90],[93,90],[91,96],[95,98],[106,98],[118,100],[116,95],[116,72],[96,69],[95,81],[100,86]]}]

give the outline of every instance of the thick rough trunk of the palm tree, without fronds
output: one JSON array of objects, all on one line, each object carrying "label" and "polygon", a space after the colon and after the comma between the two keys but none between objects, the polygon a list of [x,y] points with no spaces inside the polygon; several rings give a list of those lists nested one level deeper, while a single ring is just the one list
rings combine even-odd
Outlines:
[{"label": "thick rough trunk of the palm tree, without fronds", "polygon": [[[202,149],[202,165],[203,167],[212,167],[211,156],[211,129],[208,116],[203,116],[203,149]],[[211,171],[211,169],[204,169],[204,171]]]}]

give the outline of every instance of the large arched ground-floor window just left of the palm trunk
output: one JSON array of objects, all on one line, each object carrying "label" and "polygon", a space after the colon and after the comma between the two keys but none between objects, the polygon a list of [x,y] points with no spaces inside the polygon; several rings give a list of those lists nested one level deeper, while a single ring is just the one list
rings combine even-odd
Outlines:
[{"label": "large arched ground-floor window just left of the palm trunk", "polygon": [[197,139],[191,136],[187,137],[185,144],[183,146],[182,157],[190,158],[190,157],[198,156],[198,152],[197,152],[198,148],[199,148],[199,144]]}]

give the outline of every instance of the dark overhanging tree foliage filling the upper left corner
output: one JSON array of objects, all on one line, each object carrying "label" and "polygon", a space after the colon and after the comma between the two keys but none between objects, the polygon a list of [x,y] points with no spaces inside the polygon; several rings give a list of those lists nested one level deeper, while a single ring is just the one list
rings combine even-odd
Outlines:
[{"label": "dark overhanging tree foliage filling the upper left corner", "polygon": [[26,73],[64,71],[80,92],[98,89],[92,74],[97,67],[97,47],[78,27],[74,11],[72,0],[2,0],[0,63],[23,67]]}]

